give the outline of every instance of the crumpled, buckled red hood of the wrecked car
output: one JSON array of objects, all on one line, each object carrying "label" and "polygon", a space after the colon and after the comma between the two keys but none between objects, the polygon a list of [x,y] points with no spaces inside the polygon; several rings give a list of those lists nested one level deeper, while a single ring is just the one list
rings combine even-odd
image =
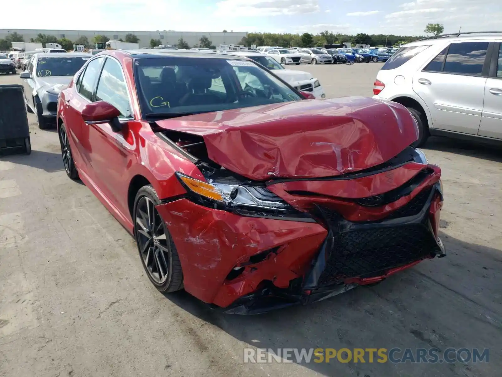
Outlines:
[{"label": "crumpled, buckled red hood of the wrecked car", "polygon": [[156,123],[201,136],[212,161],[255,180],[367,169],[418,138],[416,121],[405,107],[367,97],[303,100]]}]

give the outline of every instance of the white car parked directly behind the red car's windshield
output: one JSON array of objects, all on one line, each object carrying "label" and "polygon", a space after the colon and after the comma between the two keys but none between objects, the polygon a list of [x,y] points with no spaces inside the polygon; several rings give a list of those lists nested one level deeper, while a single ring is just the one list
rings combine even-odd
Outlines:
[{"label": "white car parked directly behind the red car's windshield", "polygon": [[[261,54],[258,52],[228,52],[231,55],[245,56],[249,59],[262,64],[268,69],[272,70],[274,74],[282,78],[288,84],[293,86],[298,91],[309,91],[315,98],[323,99],[326,98],[326,93],[324,88],[321,86],[319,80],[312,77],[312,74],[304,71],[297,71],[292,69],[285,69],[281,64],[279,64],[275,59],[266,54]],[[249,81],[249,82],[247,82]],[[249,77],[246,82],[253,86],[253,78]]]}]

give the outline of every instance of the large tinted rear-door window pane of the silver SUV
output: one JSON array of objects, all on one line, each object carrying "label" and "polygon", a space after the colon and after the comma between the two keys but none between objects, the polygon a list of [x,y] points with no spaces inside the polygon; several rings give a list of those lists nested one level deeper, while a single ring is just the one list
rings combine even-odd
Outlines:
[{"label": "large tinted rear-door window pane of the silver SUV", "polygon": [[488,42],[452,43],[443,72],[480,75],[487,50]]}]

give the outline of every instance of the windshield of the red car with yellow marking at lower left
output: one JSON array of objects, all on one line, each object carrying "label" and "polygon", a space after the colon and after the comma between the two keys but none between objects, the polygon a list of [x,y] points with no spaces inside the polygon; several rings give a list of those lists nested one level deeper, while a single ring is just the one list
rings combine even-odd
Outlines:
[{"label": "windshield of the red car with yellow marking at lower left", "polygon": [[302,99],[255,62],[231,57],[139,58],[135,79],[145,117],[169,118]]}]

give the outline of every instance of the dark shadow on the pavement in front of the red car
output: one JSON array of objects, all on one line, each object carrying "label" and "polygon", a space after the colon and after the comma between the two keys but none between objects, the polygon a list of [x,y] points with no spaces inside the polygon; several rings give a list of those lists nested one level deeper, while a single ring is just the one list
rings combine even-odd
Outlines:
[{"label": "dark shadow on the pavement in front of the red car", "polygon": [[[442,233],[448,255],[373,287],[265,315],[224,315],[185,292],[166,297],[249,347],[490,348],[489,363],[301,363],[324,375],[491,376],[502,367],[502,251]],[[402,356],[397,352],[396,357]],[[243,358],[243,351],[241,353]]]}]

